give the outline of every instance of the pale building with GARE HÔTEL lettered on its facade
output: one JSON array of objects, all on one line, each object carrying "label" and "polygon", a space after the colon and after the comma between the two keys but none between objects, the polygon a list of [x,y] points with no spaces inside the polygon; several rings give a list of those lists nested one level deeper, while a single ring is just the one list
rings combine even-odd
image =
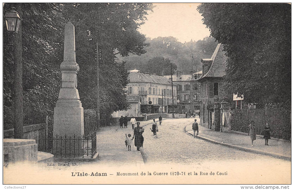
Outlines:
[{"label": "pale building with GARE H\u00d4TEL lettered on its facade", "polygon": [[[126,90],[128,95],[140,96],[140,113],[168,113],[173,105],[171,80],[166,77],[131,70],[130,82]],[[174,106],[177,100],[177,88],[173,85]]]}]

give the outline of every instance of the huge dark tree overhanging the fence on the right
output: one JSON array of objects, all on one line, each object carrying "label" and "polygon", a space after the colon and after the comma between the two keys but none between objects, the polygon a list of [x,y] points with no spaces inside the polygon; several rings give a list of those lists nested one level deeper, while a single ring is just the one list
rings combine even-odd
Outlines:
[{"label": "huge dark tree overhanging the fence on the right", "polygon": [[228,97],[238,92],[248,103],[290,106],[291,5],[209,3],[198,11],[228,56]]}]

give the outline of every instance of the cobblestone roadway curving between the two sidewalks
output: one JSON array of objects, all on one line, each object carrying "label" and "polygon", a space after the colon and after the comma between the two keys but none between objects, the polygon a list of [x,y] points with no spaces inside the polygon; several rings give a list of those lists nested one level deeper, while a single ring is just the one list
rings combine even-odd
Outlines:
[{"label": "cobblestone roadway curving between the two sidewalks", "polygon": [[[199,120],[199,119],[198,119]],[[197,164],[203,161],[265,159],[265,156],[228,148],[193,138],[184,132],[184,127],[192,125],[194,119],[183,118],[165,120],[158,125],[159,132],[153,136],[148,126],[144,141],[144,161],[146,163]],[[266,157],[270,158],[270,157]]]}]

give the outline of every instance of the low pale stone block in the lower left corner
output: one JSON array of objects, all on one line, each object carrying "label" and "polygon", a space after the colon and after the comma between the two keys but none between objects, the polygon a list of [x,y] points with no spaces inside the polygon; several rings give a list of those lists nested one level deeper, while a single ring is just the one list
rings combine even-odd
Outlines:
[{"label": "low pale stone block in the lower left corner", "polygon": [[3,139],[4,163],[32,161],[38,159],[38,145],[31,139]]}]

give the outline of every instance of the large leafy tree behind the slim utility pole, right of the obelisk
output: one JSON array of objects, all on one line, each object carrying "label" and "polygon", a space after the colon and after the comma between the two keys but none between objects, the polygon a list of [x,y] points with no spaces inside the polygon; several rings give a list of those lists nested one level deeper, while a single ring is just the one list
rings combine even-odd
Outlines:
[{"label": "large leafy tree behind the slim utility pole, right of the obelisk", "polygon": [[64,16],[76,29],[76,60],[80,65],[78,90],[84,108],[96,108],[96,60],[98,42],[101,49],[100,112],[107,118],[113,111],[128,109],[126,91],[128,73],[116,54],[141,55],[145,36],[137,29],[144,23],[152,4],[144,3],[67,3]]}]

